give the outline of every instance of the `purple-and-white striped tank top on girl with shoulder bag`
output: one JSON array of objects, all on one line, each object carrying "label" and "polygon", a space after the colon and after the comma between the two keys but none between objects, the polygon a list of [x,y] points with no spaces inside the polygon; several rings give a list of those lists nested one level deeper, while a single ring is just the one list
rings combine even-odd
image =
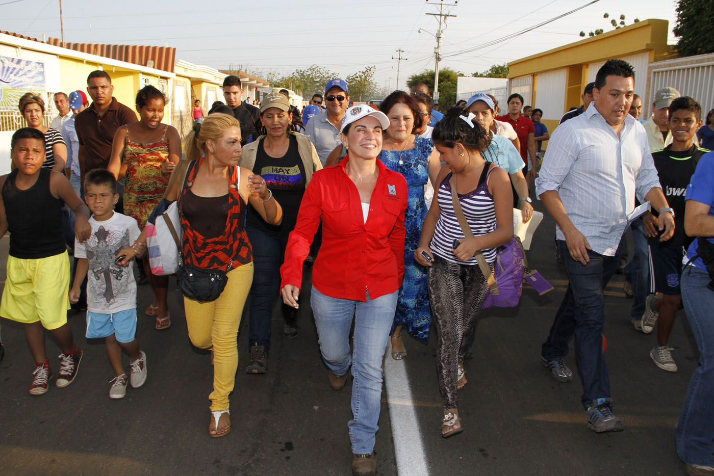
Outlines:
[{"label": "purple-and-white striped tank top on girl with shoulder bag", "polygon": [[[493,196],[488,192],[488,175],[496,166],[491,166],[486,162],[483,172],[478,180],[478,186],[469,192],[458,194],[461,210],[466,216],[466,222],[471,227],[473,236],[482,236],[496,230],[496,208],[493,205]],[[461,261],[453,254],[453,240],[465,238],[461,226],[458,224],[456,213],[453,211],[451,201],[451,173],[441,181],[437,191],[436,199],[439,204],[439,220],[436,222],[434,236],[431,238],[429,248],[432,253],[439,258],[462,265],[478,265],[476,258],[468,261]],[[496,260],[496,248],[486,248],[481,250],[486,262],[491,263]]]}]

